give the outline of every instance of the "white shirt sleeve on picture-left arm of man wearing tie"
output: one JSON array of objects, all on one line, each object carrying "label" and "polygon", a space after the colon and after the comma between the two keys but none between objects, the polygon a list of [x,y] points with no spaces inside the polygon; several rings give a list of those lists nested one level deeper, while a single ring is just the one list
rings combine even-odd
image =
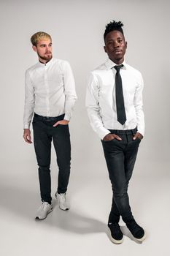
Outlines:
[{"label": "white shirt sleeve on picture-left arm of man wearing tie", "polygon": [[109,130],[104,127],[101,119],[100,106],[99,106],[99,83],[96,75],[90,74],[88,78],[88,87],[86,91],[85,105],[88,110],[88,117],[90,119],[90,125],[97,135],[104,138],[109,134]]}]

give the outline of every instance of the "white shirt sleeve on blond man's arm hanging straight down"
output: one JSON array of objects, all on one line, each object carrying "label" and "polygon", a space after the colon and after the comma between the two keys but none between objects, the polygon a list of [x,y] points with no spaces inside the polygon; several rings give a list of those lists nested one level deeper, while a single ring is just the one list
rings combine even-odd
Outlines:
[{"label": "white shirt sleeve on blond man's arm hanging straight down", "polygon": [[23,114],[23,129],[29,129],[35,107],[34,86],[28,70],[25,75],[25,106]]}]

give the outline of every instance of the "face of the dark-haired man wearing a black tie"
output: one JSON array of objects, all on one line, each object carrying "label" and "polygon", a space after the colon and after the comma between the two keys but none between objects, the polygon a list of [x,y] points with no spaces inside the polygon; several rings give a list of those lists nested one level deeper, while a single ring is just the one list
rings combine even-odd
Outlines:
[{"label": "face of the dark-haired man wearing a black tie", "polygon": [[124,61],[127,42],[120,31],[109,32],[105,38],[104,50],[115,64],[121,64]]}]

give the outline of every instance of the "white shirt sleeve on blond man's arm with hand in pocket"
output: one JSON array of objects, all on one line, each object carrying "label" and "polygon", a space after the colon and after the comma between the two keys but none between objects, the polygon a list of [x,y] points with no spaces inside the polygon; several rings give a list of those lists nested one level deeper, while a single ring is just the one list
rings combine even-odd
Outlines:
[{"label": "white shirt sleeve on blond man's arm with hand in pocket", "polygon": [[63,65],[63,83],[64,83],[64,94],[65,100],[65,120],[70,120],[72,117],[72,112],[74,110],[74,104],[77,100],[77,94],[75,90],[74,75],[72,73],[72,68],[68,61],[65,61]]}]

